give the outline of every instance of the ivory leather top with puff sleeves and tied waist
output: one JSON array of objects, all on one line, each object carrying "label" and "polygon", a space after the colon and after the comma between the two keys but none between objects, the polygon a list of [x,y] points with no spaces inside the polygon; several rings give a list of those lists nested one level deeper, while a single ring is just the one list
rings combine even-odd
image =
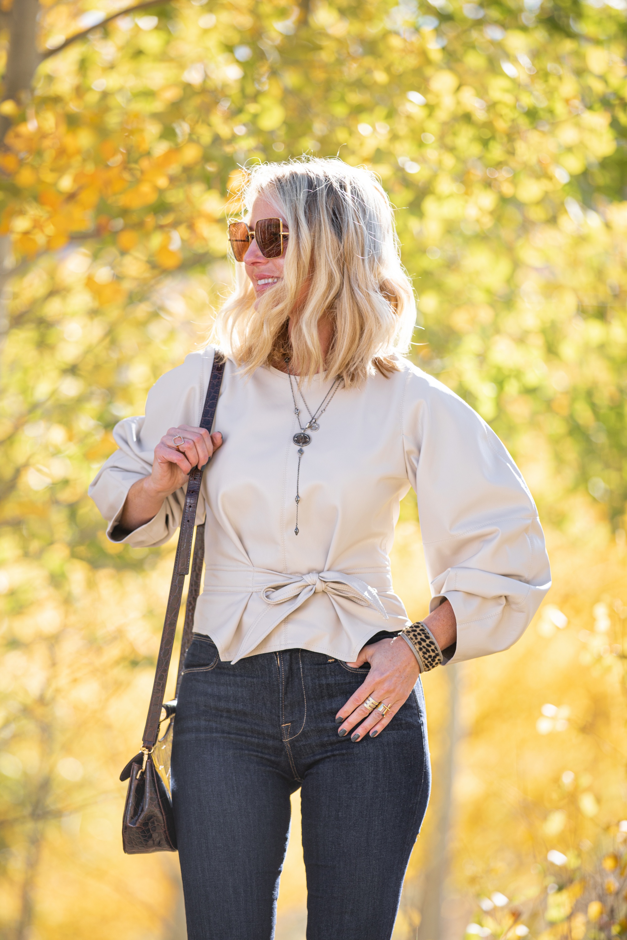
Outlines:
[{"label": "ivory leather top with puff sleeves and tied waist", "polygon": [[[146,477],[170,427],[197,426],[213,348],[192,352],[150,389],[145,417],[114,429],[118,450],[89,493],[110,539],[162,545],[180,524],[184,489],[129,534],[116,529],[126,494]],[[205,519],[205,581],[196,633],[223,661],[303,648],[353,661],[369,637],[409,620],[394,593],[389,551],[400,499],[417,494],[431,610],[457,618],[451,662],[507,649],[550,587],[544,537],[525,480],[485,421],[436,379],[399,359],[389,378],[340,387],[301,462],[290,379],[259,368],[248,379],[228,359],[196,522]],[[332,379],[303,387],[316,409]],[[301,406],[301,422],[308,415]]]}]

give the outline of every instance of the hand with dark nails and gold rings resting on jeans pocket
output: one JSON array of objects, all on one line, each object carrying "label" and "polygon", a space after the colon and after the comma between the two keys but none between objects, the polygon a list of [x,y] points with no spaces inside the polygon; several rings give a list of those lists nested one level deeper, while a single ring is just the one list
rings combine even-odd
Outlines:
[{"label": "hand with dark nails and gold rings resting on jeans pocket", "polygon": [[[368,731],[371,738],[381,734],[400,706],[409,698],[420,674],[418,661],[402,636],[379,640],[378,643],[365,646],[356,661],[347,663],[347,666],[358,667],[364,663],[370,664],[368,676],[336,717],[337,722],[341,721],[341,728],[338,730],[340,738],[359,725],[351,738],[355,742],[366,737]],[[389,712],[385,715],[376,709],[368,712],[364,705],[368,696],[376,702],[389,705]]]}]

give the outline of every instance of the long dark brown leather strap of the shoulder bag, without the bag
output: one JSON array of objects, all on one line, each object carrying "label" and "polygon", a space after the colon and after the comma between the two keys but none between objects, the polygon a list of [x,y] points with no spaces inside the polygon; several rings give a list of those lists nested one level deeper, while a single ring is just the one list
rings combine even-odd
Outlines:
[{"label": "long dark brown leather strap of the shoulder bag, without the bag", "polygon": [[[218,352],[216,352],[213,359],[212,375],[209,380],[207,397],[205,399],[205,405],[202,410],[202,417],[200,418],[200,427],[206,428],[210,433],[212,431],[213,418],[215,417],[215,409],[218,404],[218,395],[220,394],[220,385],[222,384],[224,368],[225,360]],[[208,465],[209,463],[206,463],[205,467]],[[167,607],[165,609],[164,632],[161,636],[161,646],[159,647],[159,655],[157,656],[157,668],[154,674],[152,694],[150,695],[146,728],[144,729],[143,744],[144,747],[148,748],[154,747],[154,744],[156,743],[157,737],[159,735],[159,718],[161,716],[161,707],[164,703],[165,683],[167,682],[167,673],[170,666],[170,659],[172,657],[174,637],[177,632],[177,621],[179,619],[180,600],[182,598],[185,575],[189,571],[190,556],[192,554],[192,540],[194,538],[194,524],[196,522],[196,506],[198,504],[198,494],[200,493],[200,484],[202,483],[202,474],[205,467],[203,467],[202,470],[198,470],[197,467],[193,467],[188,478],[187,493],[185,495],[185,507],[183,509],[183,516],[180,521],[179,544],[177,545],[177,554],[174,560],[174,572],[172,572],[170,593],[167,599]],[[202,529],[202,533],[200,532],[200,529]],[[194,550],[195,563],[193,566],[193,577],[191,579],[192,583],[190,584],[189,592],[190,595],[193,596],[194,584],[196,587],[196,597],[193,598],[193,605],[190,605],[192,598],[188,596],[185,615],[186,627],[188,620],[190,623],[188,635],[191,635],[192,633],[194,610],[196,609],[197,589],[200,586],[200,572],[202,571],[202,561],[204,557],[204,540],[202,536],[204,536],[204,525],[199,525],[198,532],[196,534],[196,545]],[[200,549],[201,544],[202,550]],[[197,557],[199,558],[199,565],[197,564],[196,553]]]}]

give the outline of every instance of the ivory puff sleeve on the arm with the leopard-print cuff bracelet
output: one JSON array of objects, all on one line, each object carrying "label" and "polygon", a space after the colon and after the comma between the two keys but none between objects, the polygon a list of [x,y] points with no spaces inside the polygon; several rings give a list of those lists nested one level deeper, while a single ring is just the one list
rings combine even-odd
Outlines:
[{"label": "ivory puff sleeve on the arm with the leopard-print cuff bracelet", "polygon": [[462,399],[431,376],[408,375],[402,413],[431,610],[457,619],[451,662],[506,650],[551,587],[538,510],[505,446]]}]

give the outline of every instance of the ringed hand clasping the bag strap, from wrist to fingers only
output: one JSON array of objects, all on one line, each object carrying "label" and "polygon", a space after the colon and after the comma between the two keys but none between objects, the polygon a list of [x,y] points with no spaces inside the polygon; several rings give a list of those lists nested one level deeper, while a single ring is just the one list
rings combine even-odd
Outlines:
[{"label": "ringed hand clasping the bag strap, from wrist to fingers only", "polygon": [[149,490],[164,498],[179,490],[187,482],[192,467],[203,467],[221,445],[220,431],[210,434],[204,428],[193,428],[188,424],[169,428],[154,448]]}]

